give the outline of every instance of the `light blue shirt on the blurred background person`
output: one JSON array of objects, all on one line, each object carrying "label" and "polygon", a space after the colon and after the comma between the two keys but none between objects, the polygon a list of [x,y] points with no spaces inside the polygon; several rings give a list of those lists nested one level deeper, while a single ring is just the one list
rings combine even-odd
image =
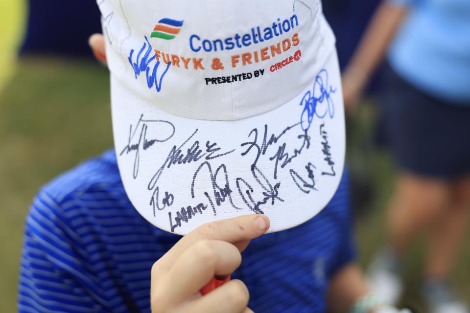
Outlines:
[{"label": "light blue shirt on the blurred background person", "polygon": [[470,0],[388,0],[410,9],[388,60],[409,84],[470,106]]}]

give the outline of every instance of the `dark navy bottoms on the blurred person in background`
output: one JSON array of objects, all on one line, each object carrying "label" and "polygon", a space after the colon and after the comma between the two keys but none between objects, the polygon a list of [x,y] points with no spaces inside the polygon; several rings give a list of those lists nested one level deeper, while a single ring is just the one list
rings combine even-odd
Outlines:
[{"label": "dark navy bottoms on the blurred person in background", "polygon": [[382,126],[400,168],[438,179],[469,175],[470,103],[433,98],[390,67],[383,87]]}]

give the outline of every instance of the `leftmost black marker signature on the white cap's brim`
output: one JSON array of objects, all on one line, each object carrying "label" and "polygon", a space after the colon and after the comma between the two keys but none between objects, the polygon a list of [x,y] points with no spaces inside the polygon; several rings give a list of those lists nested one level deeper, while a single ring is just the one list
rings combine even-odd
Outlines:
[{"label": "leftmost black marker signature on the white cap's brim", "polygon": [[[166,124],[169,125],[172,129],[171,134],[167,134],[164,136],[162,139],[150,139],[147,140],[147,130],[149,125],[155,125],[155,124]],[[132,142],[134,138],[136,137],[137,131],[139,127],[141,126],[141,132],[139,134],[139,138],[137,142]],[[155,143],[157,142],[165,142],[169,140],[173,135],[175,134],[175,126],[168,122],[168,121],[163,121],[163,120],[153,120],[153,119],[144,119],[143,114],[141,114],[141,117],[139,118],[139,121],[137,122],[137,125],[133,128],[132,125],[129,128],[129,139],[127,141],[127,146],[122,149],[121,153],[119,156],[122,156],[124,153],[129,154],[132,151],[136,152],[136,156],[134,159],[134,170],[133,170],[133,176],[134,179],[137,178],[139,175],[139,165],[140,165],[140,151],[141,149],[143,151],[147,150],[148,148],[152,147]]]}]

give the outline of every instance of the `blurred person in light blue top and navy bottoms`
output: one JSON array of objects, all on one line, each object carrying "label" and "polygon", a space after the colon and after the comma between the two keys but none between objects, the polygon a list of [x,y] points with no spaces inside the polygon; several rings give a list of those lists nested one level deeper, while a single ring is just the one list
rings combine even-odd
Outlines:
[{"label": "blurred person in light blue top and navy bottoms", "polygon": [[429,234],[423,296],[430,312],[465,313],[448,277],[470,211],[470,1],[386,0],[343,72],[353,112],[387,55],[384,128],[399,167],[388,209],[388,242],[370,268],[373,288],[396,303],[400,258]]}]

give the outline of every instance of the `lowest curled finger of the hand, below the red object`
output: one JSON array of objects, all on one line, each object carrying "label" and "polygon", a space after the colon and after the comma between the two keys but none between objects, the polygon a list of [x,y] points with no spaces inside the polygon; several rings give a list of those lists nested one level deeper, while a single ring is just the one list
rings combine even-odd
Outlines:
[{"label": "lowest curled finger of the hand, below the red object", "polygon": [[[234,279],[192,301],[185,312],[245,313],[250,294],[242,281]],[[249,310],[249,309],[248,309]]]}]

